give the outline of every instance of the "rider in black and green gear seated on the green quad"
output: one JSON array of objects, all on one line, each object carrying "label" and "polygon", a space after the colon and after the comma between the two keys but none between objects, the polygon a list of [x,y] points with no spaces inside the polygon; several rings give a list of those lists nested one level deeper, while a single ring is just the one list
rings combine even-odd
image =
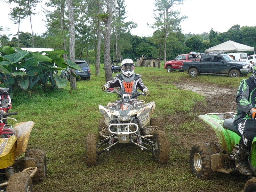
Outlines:
[{"label": "rider in black and green gear seated on the green quad", "polygon": [[236,167],[242,174],[252,175],[248,164],[248,155],[252,140],[256,136],[256,64],[252,67],[252,76],[240,82],[236,92],[236,117],[234,125],[242,134],[239,141]]}]

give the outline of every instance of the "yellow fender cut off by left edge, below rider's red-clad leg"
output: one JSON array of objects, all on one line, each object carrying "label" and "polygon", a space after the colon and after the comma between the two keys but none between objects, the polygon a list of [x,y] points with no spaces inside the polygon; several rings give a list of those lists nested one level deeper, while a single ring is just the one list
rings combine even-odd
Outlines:
[{"label": "yellow fender cut off by left edge, below rider's red-clad leg", "polygon": [[17,139],[14,135],[10,138],[0,138],[0,169],[11,166],[15,160]]}]

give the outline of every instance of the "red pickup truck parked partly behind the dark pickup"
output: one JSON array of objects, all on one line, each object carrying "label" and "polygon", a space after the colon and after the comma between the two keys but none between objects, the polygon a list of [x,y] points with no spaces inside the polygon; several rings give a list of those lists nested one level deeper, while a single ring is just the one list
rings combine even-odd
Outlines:
[{"label": "red pickup truck parked partly behind the dark pickup", "polygon": [[171,73],[172,71],[175,71],[175,70],[179,70],[183,72],[184,70],[182,69],[183,67],[182,62],[193,61],[195,60],[195,58],[196,58],[196,54],[191,54],[191,53],[178,55],[174,60],[167,61],[164,65],[164,68],[167,69],[168,73]]}]

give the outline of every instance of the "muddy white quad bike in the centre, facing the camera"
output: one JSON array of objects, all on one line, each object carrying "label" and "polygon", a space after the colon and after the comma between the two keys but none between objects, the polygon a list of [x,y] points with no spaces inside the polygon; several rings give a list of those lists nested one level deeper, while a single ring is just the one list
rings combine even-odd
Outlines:
[{"label": "muddy white quad bike in the centre, facing the camera", "polygon": [[[153,159],[159,164],[166,164],[169,158],[169,140],[164,132],[163,121],[151,121],[146,124],[155,110],[155,102],[136,107],[132,101],[144,93],[127,93],[109,88],[108,93],[116,93],[119,103],[116,107],[99,105],[103,119],[99,125],[100,142],[95,133],[89,133],[86,138],[87,165],[97,164],[97,155],[109,151],[117,144],[132,143],[153,154]],[[120,99],[121,98],[121,99]],[[160,125],[159,125],[160,124]],[[156,126],[158,125],[158,126]],[[144,130],[144,131],[141,131]]]}]

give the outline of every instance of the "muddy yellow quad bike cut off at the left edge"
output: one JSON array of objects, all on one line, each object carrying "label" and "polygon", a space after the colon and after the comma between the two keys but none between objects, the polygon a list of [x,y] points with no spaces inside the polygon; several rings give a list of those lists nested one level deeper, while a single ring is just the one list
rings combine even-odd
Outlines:
[{"label": "muddy yellow quad bike cut off at the left edge", "polygon": [[[17,112],[0,116],[0,120],[12,119],[7,117],[17,115]],[[46,178],[46,156],[44,150],[26,150],[33,121],[15,124],[15,135],[0,138],[0,192],[33,192],[33,182],[40,182]],[[12,125],[5,125],[12,128]],[[25,152],[25,155],[21,155]],[[12,169],[12,176],[8,179],[6,172]],[[13,174],[14,173],[14,174]]]}]

